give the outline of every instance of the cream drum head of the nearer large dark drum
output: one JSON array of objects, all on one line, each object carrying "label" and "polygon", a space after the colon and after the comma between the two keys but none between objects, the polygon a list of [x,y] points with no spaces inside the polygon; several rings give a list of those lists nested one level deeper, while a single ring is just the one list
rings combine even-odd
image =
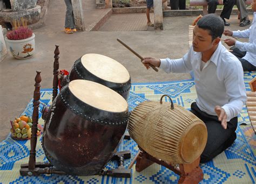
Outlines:
[{"label": "cream drum head of the nearer large dark drum", "polygon": [[69,83],[69,89],[80,101],[92,107],[109,112],[124,112],[128,109],[128,104],[121,95],[102,84],[73,80]]}]

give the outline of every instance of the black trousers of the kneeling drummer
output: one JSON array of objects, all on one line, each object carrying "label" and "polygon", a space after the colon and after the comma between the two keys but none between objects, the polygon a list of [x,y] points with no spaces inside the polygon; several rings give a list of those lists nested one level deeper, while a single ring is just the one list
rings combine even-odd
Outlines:
[{"label": "black trousers of the kneeling drummer", "polygon": [[234,140],[237,138],[235,134],[238,123],[237,117],[227,122],[227,129],[224,129],[221,126],[221,122],[218,121],[218,116],[208,115],[204,111],[201,111],[196,102],[191,104],[190,111],[201,119],[207,128],[207,143],[200,157],[201,163],[210,161],[234,143]]}]

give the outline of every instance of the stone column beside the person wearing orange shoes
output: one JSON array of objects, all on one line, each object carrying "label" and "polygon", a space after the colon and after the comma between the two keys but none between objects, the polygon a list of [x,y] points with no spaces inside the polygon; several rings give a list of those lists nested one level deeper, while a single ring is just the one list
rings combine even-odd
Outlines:
[{"label": "stone column beside the person wearing orange shoes", "polygon": [[77,31],[85,31],[82,0],[71,0]]}]

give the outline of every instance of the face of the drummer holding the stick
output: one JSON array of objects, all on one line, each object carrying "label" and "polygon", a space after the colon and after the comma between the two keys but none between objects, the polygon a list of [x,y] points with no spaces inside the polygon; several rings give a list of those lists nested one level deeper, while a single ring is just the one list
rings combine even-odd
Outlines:
[{"label": "face of the drummer holding the stick", "polygon": [[195,52],[205,52],[211,49],[215,45],[215,39],[212,40],[212,36],[208,30],[200,29],[197,25],[193,30],[193,49]]}]

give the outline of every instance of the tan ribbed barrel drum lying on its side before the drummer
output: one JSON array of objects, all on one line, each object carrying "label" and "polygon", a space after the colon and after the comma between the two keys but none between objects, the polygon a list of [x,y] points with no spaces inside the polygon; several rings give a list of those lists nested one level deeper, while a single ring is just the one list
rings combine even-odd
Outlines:
[{"label": "tan ribbed barrel drum lying on its side before the drummer", "polygon": [[128,128],[139,147],[173,164],[196,160],[207,141],[204,122],[179,105],[172,109],[169,102],[140,103],[131,113]]}]

